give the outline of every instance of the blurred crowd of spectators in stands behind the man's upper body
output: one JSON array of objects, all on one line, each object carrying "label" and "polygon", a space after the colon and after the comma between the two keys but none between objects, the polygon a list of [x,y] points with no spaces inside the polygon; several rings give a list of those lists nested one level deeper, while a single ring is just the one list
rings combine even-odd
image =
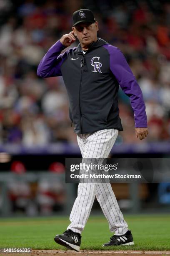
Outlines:
[{"label": "blurred crowd of spectators in stands behind the man's upper body", "polygon": [[[36,71],[50,46],[72,30],[72,13],[80,8],[94,12],[98,36],[125,54],[143,91],[147,141],[170,140],[168,1],[0,0],[0,143],[76,143],[62,77],[41,79]],[[129,98],[119,93],[124,131],[117,139],[140,143]]]}]

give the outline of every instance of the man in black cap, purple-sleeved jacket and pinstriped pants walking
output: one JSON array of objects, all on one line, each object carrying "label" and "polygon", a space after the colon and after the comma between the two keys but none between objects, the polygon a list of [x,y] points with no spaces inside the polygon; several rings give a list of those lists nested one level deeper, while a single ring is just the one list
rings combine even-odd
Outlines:
[{"label": "man in black cap, purple-sleeved jacket and pinstriped pants walking", "polygon": [[[119,49],[97,38],[98,23],[87,9],[73,13],[73,27],[60,38],[42,58],[37,69],[40,77],[61,76],[64,79],[70,103],[70,120],[75,125],[77,141],[83,159],[107,158],[122,125],[118,109],[119,84],[130,102],[135,116],[136,137],[143,140],[147,134],[147,118],[143,95],[133,73]],[[60,52],[75,42],[80,44]],[[70,214],[70,225],[55,242],[80,250],[81,232],[97,197],[110,231],[115,232],[103,246],[133,245],[110,183],[79,183],[77,198]]]}]

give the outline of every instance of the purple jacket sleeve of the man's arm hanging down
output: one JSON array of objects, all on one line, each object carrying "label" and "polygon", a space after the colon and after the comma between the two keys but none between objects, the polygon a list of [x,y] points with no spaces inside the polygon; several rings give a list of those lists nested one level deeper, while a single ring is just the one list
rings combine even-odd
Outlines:
[{"label": "purple jacket sleeve of the man's arm hanging down", "polygon": [[104,46],[110,55],[110,70],[120,84],[123,92],[130,97],[130,103],[134,111],[135,127],[147,127],[147,116],[143,94],[136,81],[124,55],[110,44]]}]

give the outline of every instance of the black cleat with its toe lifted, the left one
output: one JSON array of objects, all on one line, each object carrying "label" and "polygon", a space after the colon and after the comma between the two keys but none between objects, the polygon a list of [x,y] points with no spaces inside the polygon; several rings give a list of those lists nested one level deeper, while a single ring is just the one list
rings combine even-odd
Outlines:
[{"label": "black cleat with its toe lifted, the left one", "polygon": [[71,250],[80,251],[81,235],[70,229],[66,230],[62,235],[56,235],[54,241]]}]

